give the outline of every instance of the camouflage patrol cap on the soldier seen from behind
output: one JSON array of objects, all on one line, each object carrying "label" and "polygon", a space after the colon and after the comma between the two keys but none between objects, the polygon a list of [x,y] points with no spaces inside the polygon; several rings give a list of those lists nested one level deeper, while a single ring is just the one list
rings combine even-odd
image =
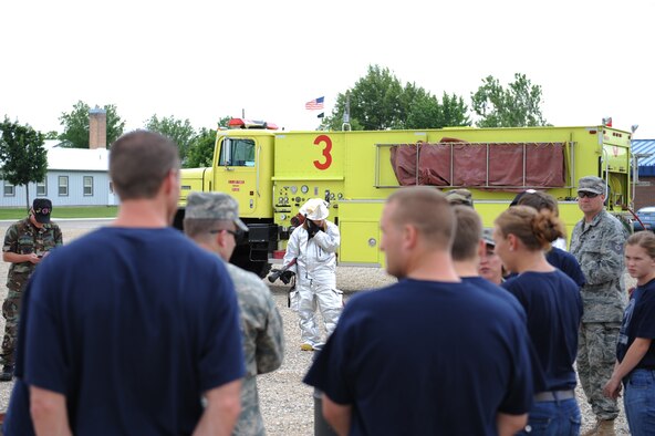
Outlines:
[{"label": "camouflage patrol cap on the soldier seen from behind", "polygon": [[232,221],[241,230],[248,231],[248,226],[239,219],[239,204],[223,193],[190,193],[185,218]]}]

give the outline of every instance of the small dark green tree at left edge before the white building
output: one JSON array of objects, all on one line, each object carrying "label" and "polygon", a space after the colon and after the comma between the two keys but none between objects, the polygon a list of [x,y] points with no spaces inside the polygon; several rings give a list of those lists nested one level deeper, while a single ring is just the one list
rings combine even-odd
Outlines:
[{"label": "small dark green tree at left edge before the white building", "polygon": [[[14,186],[30,181],[43,181],[48,172],[48,152],[43,147],[43,134],[30,125],[0,124],[0,172],[2,178]],[[30,190],[25,189],[27,208],[30,209]]]}]

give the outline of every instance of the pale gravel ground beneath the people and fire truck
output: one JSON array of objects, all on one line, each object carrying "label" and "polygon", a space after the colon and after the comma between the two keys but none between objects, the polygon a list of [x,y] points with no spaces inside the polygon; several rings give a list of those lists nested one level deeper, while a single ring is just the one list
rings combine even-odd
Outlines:
[{"label": "pale gravel ground beneath the people and fire truck", "polygon": [[[64,235],[64,242],[70,242],[97,225],[103,224],[102,221],[89,224],[87,221],[76,222],[73,220],[59,222]],[[8,226],[9,222],[0,222],[0,235],[4,235]],[[8,263],[0,262],[0,280],[2,283],[7,277],[7,270]],[[340,267],[337,268],[336,278],[337,287],[344,291],[346,301],[357,290],[377,288],[395,281],[383,270],[373,268]],[[7,290],[3,286],[1,288],[4,298]],[[272,286],[271,291],[283,318],[287,351],[284,363],[278,371],[259,376],[259,394],[264,424],[269,435],[312,435],[314,421],[313,390],[303,385],[301,380],[311,364],[313,353],[300,351],[298,315],[287,308],[288,288]],[[3,331],[3,328],[4,320],[0,318],[0,332]],[[0,383],[0,411],[7,409],[12,386],[13,383],[11,382]],[[584,432],[594,424],[595,418],[580,386],[576,392],[583,417],[582,430]],[[630,434],[623,406],[615,428],[617,434]]]}]

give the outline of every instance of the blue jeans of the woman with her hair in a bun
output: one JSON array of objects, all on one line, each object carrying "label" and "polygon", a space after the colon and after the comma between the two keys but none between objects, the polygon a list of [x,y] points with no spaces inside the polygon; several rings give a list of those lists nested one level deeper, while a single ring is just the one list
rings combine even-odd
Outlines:
[{"label": "blue jeans of the woman with her hair in a bun", "polygon": [[537,402],[528,415],[528,425],[519,435],[578,436],[580,407],[575,398]]}]

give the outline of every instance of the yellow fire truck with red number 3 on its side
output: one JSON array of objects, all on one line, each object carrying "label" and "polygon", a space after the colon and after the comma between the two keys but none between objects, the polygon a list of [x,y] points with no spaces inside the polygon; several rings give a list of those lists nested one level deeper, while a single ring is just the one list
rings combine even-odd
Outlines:
[{"label": "yellow fire truck with red number 3 on its side", "polygon": [[526,189],[559,200],[569,235],[582,214],[576,184],[607,183],[607,210],[632,209],[630,132],[606,125],[376,132],[280,132],[273,125],[230,121],[218,131],[212,166],[184,169],[176,225],[190,191],[232,195],[250,231],[232,262],[266,274],[283,252],[293,218],[309,198],[330,203],[341,231],[340,264],[382,266],[380,217],[385,198],[409,185],[471,190],[484,225]]}]

